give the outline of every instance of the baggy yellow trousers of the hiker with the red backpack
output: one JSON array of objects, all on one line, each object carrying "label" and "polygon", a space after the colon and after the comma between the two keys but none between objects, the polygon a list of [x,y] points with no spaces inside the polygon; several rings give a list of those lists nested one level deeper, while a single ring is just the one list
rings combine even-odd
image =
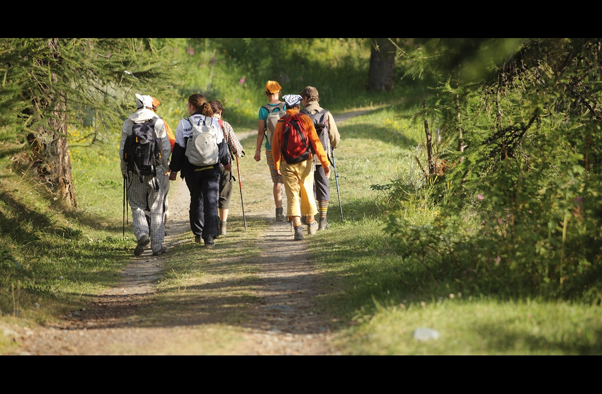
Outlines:
[{"label": "baggy yellow trousers of the hiker with the red backpack", "polygon": [[287,192],[287,216],[313,216],[318,213],[314,200],[314,162],[309,159],[297,164],[280,164]]}]

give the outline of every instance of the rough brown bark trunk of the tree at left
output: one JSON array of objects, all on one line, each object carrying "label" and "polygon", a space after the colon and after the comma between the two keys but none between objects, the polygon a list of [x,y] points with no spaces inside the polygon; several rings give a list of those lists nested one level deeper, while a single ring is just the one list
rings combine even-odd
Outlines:
[{"label": "rough brown bark trunk of the tree at left", "polygon": [[[48,40],[48,45],[54,52],[55,61],[60,63],[57,38]],[[57,79],[57,75],[51,73],[51,81],[56,82]],[[38,175],[56,194],[56,200],[64,208],[76,208],[67,142],[67,100],[61,94],[53,94],[49,86],[43,87],[42,92],[39,95],[32,92],[31,97],[37,113],[47,117],[46,122],[42,122],[34,133],[27,136],[33,153],[33,165]]]}]

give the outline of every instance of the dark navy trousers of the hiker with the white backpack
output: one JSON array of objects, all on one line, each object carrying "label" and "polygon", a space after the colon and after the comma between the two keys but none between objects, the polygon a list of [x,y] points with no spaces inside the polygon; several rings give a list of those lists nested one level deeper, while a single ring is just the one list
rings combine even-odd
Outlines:
[{"label": "dark navy trousers of the hiker with the white backpack", "polygon": [[220,171],[193,171],[185,177],[190,191],[190,229],[204,241],[217,237],[217,200],[220,192]]}]

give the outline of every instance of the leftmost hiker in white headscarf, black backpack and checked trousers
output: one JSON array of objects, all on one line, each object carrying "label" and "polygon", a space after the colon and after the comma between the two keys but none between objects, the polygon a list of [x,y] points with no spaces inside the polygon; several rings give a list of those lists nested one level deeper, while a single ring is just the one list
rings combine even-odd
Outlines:
[{"label": "leftmost hiker in white headscarf, black backpack and checked trousers", "polygon": [[[155,256],[167,251],[163,245],[163,197],[171,146],[165,124],[152,106],[151,96],[136,93],[136,111],[123,122],[119,145],[136,236],[135,256],[140,256],[149,243]],[[144,215],[146,209],[150,211],[151,226]]]}]

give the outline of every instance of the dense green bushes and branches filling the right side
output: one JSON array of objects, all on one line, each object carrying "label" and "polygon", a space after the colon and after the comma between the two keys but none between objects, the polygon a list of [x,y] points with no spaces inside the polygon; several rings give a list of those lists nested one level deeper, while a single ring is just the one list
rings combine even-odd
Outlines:
[{"label": "dense green bushes and branches filling the right side", "polygon": [[[442,176],[396,180],[388,231],[456,291],[602,301],[599,39],[432,39],[400,48],[432,88]],[[459,140],[462,131],[462,140]],[[459,151],[458,146],[465,147]],[[432,204],[441,216],[410,224]],[[470,282],[458,280],[475,272]],[[435,279],[437,280],[437,279]]]}]

